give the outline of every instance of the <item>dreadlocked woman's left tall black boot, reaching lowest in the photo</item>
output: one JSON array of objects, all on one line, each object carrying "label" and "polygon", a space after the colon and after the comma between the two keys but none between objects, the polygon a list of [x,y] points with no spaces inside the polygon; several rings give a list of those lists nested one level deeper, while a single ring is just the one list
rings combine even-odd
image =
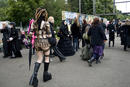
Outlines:
[{"label": "dreadlocked woman's left tall black boot, reaching lowest in the photo", "polygon": [[37,73],[40,67],[40,63],[35,63],[34,72],[33,75],[30,78],[29,85],[32,85],[33,87],[38,87],[38,79],[37,79]]}]

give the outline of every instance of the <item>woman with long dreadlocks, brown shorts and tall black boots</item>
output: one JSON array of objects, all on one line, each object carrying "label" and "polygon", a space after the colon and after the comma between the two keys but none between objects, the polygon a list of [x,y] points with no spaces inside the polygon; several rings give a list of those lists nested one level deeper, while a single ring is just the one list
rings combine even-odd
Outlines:
[{"label": "woman with long dreadlocks, brown shorts and tall black boots", "polygon": [[50,46],[51,46],[49,38],[52,37],[52,34],[47,19],[48,19],[47,10],[43,8],[37,8],[35,13],[35,21],[31,25],[31,32],[35,32],[36,34],[35,49],[38,56],[37,61],[35,62],[33,74],[29,82],[29,85],[32,85],[33,87],[38,87],[37,75],[40,65],[43,62],[43,58],[45,58],[43,81],[46,82],[52,79],[51,73],[48,72],[50,63],[49,59]]}]

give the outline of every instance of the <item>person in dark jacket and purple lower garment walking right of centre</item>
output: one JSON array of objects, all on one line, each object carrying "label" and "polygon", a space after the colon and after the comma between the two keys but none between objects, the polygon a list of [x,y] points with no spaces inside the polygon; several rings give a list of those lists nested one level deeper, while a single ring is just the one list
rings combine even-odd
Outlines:
[{"label": "person in dark jacket and purple lower garment walking right of centre", "polygon": [[99,61],[99,57],[103,54],[103,44],[106,41],[105,33],[100,25],[99,18],[94,18],[91,28],[88,31],[88,36],[91,37],[91,46],[93,48],[92,57],[88,60],[89,66],[92,66],[93,61]]}]

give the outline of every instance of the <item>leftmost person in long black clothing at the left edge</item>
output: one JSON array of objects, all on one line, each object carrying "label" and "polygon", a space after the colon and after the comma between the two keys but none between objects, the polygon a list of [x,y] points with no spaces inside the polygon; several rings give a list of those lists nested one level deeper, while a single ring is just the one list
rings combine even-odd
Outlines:
[{"label": "leftmost person in long black clothing at the left edge", "polygon": [[10,29],[7,27],[6,23],[3,23],[3,29],[1,30],[1,33],[3,33],[3,53],[4,53],[4,58],[8,57],[11,55],[11,50],[10,50],[10,42],[9,42],[9,36],[10,36]]}]

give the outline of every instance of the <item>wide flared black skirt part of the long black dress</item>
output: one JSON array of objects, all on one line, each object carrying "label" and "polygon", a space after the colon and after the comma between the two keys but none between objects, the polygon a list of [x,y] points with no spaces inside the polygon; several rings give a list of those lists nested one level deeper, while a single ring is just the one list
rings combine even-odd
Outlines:
[{"label": "wide flared black skirt part of the long black dress", "polygon": [[57,47],[64,56],[72,56],[75,54],[70,38],[60,38]]}]

